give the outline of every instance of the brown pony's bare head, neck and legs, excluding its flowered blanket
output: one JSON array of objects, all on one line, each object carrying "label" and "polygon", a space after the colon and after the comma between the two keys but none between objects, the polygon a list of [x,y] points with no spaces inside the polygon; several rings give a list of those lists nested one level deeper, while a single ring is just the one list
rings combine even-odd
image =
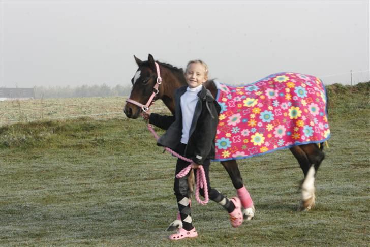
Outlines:
[{"label": "brown pony's bare head, neck and legs, excluding its flowered blanket", "polygon": [[[133,84],[129,99],[145,105],[149,98],[153,101],[161,99],[174,115],[175,110],[175,90],[181,86],[186,86],[186,80],[182,69],[178,69],[170,64],[160,63],[155,61],[152,55],[148,55],[147,61],[141,61],[136,56],[135,61],[139,66],[135,76],[131,79]],[[158,86],[158,72],[156,64],[159,65],[159,71],[162,78],[162,83]],[[157,84],[158,89],[155,89],[157,94],[152,94],[153,87]],[[204,86],[210,90],[214,98],[217,96],[217,87],[213,80],[207,81]],[[143,108],[136,104],[128,102],[124,107],[124,112],[129,118],[138,118]],[[144,109],[145,110],[145,109]],[[300,168],[303,171],[304,180],[302,182],[302,199],[298,210],[310,210],[315,206],[315,175],[324,159],[324,152],[315,143],[297,144],[289,147],[293,156],[297,159]],[[226,171],[229,173],[231,181],[237,190],[237,194],[242,201],[244,207],[244,219],[251,220],[254,217],[255,210],[251,197],[246,191],[243,184],[243,179],[236,160],[221,161]],[[244,203],[243,203],[244,201]]]}]

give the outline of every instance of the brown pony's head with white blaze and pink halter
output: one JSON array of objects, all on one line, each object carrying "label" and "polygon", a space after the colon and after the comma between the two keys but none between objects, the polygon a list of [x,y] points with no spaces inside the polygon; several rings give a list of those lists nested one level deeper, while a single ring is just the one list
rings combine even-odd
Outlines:
[{"label": "brown pony's head with white blaze and pink halter", "polygon": [[[153,95],[153,91],[157,94],[159,93],[159,89],[153,90],[155,85],[158,83],[156,63],[153,56],[149,54],[147,61],[142,61],[135,55],[134,58],[139,68],[131,79],[132,90],[129,101],[124,107],[124,113],[126,116],[133,119],[137,118],[141,111],[146,109],[145,105]],[[155,95],[155,98],[159,97],[157,94]]]}]

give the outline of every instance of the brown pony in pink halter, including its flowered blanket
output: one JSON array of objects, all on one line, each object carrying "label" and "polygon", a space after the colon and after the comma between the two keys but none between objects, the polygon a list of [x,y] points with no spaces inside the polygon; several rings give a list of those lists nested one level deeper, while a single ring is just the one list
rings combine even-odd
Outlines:
[{"label": "brown pony in pink halter, including its flowered blanket", "polygon": [[[158,99],[174,115],[175,90],[187,86],[183,70],[156,61],[151,54],[146,61],[135,55],[134,58],[139,68],[131,79],[131,94],[124,106],[126,116],[138,118]],[[325,158],[322,143],[330,137],[322,81],[285,72],[243,86],[227,86],[217,80],[208,80],[204,86],[222,108],[215,139],[218,150],[213,161],[220,161],[228,172],[242,202],[244,220],[253,219],[255,208],[237,160],[282,148],[290,149],[303,172],[298,211],[312,209],[315,177]],[[288,139],[283,140],[283,136]]]}]

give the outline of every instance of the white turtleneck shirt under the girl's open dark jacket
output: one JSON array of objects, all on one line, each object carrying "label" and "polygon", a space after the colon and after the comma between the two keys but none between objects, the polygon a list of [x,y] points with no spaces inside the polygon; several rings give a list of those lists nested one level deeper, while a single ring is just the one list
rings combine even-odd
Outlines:
[{"label": "white turtleneck shirt under the girl's open dark jacket", "polygon": [[198,102],[198,92],[202,90],[203,85],[194,88],[187,88],[187,91],[180,98],[182,112],[182,136],[181,143],[188,144],[189,131],[192,126],[195,106]]}]

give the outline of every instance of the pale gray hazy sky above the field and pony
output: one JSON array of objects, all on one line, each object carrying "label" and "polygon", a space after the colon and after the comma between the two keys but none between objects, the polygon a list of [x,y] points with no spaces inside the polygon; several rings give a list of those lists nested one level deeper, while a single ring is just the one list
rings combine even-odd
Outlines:
[{"label": "pale gray hazy sky above the field and pony", "polygon": [[[370,80],[369,1],[1,1],[1,86],[129,85],[151,53],[248,84],[283,71]],[[342,74],[342,75],[337,75]],[[343,75],[344,74],[344,75]],[[335,75],[335,76],[331,76]]]}]

